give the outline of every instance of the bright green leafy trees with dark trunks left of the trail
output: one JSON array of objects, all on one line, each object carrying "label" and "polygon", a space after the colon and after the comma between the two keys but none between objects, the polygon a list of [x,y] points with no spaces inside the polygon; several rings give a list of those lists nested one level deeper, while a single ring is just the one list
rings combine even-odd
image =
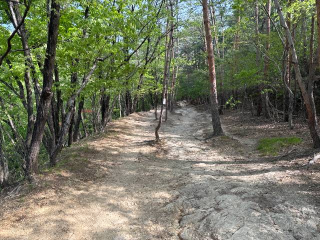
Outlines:
[{"label": "bright green leafy trees with dark trunks left of the trail", "polygon": [[0,6],[3,185],[54,165],[62,147],[157,101],[169,17],[163,0]]}]

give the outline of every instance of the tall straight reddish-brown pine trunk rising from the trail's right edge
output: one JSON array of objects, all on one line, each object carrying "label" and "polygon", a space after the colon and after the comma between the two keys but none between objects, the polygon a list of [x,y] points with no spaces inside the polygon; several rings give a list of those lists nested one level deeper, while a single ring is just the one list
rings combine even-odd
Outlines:
[{"label": "tall straight reddish-brown pine trunk rising from the trail's right edge", "polygon": [[210,29],[210,22],[209,22],[207,0],[202,1],[202,10],[203,10],[203,23],[204,23],[204,29],[205,29],[205,38],[206,38],[206,46],[207,46],[206,49],[208,54],[208,65],[209,65],[210,100],[211,100],[213,135],[220,136],[220,135],[223,135],[223,130],[221,127],[219,112],[218,112],[214,55],[213,55],[212,36],[211,36],[211,29]]}]

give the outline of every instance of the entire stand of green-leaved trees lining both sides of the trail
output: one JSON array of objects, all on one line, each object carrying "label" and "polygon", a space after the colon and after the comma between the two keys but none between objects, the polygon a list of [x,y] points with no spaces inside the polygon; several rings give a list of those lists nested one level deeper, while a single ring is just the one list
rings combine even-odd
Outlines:
[{"label": "entire stand of green-leaved trees lining both sides of the trail", "polygon": [[289,128],[305,117],[320,147],[319,11],[318,0],[0,1],[1,185],[135,111],[154,109],[159,140],[179,99],[211,102],[215,135],[225,108]]}]

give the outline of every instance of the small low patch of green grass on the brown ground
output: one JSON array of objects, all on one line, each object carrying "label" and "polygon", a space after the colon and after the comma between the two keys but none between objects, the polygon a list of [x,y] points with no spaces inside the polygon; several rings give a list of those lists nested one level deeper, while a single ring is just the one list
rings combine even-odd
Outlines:
[{"label": "small low patch of green grass on the brown ground", "polygon": [[279,150],[290,145],[297,145],[302,139],[295,136],[261,138],[257,150],[265,155],[277,155]]}]

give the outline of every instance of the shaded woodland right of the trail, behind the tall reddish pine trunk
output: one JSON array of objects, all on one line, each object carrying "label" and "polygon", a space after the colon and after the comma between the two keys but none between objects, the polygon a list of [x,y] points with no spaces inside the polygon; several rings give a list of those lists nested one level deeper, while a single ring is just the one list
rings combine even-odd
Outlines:
[{"label": "shaded woodland right of the trail, behind the tall reddish pine trunk", "polygon": [[[305,117],[320,147],[316,6],[320,2],[314,0],[209,2],[220,114],[225,108],[247,109],[286,121],[289,128],[292,116]],[[178,98],[209,103],[202,15],[193,11],[187,21],[180,55],[188,61],[178,76]]]}]

